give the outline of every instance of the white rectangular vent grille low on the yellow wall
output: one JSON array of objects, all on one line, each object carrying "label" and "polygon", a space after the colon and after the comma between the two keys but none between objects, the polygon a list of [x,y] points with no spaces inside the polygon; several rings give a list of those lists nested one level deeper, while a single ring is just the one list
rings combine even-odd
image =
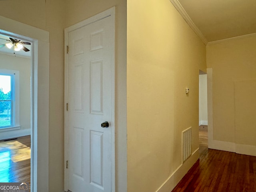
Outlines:
[{"label": "white rectangular vent grille low on the yellow wall", "polygon": [[191,156],[192,127],[182,131],[183,162]]}]

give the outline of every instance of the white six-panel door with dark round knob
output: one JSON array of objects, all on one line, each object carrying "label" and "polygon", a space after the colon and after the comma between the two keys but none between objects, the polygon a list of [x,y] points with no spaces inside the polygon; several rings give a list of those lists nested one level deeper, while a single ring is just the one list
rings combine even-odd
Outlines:
[{"label": "white six-panel door with dark round knob", "polygon": [[[66,190],[113,191],[114,26],[109,15],[68,32]],[[102,128],[103,122],[109,127]]]}]

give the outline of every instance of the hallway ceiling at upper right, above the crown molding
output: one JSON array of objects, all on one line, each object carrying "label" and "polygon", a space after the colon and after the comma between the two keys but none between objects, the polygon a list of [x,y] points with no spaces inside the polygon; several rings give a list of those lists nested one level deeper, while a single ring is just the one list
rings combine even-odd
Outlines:
[{"label": "hallway ceiling at upper right, above the crown molding", "polygon": [[170,1],[183,17],[187,14],[185,20],[191,19],[206,44],[256,33],[256,0]]}]

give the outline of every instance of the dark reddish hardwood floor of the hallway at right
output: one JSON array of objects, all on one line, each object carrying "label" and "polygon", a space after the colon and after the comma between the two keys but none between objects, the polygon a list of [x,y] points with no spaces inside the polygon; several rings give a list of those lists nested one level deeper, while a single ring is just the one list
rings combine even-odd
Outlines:
[{"label": "dark reddish hardwood floor of the hallway at right", "polygon": [[255,156],[204,145],[199,146],[199,160],[172,192],[256,192]]}]

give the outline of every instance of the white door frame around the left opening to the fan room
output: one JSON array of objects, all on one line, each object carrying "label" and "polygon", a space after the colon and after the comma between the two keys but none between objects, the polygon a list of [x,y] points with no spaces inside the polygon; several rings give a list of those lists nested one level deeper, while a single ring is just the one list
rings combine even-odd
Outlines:
[{"label": "white door frame around the left opening to the fan room", "polygon": [[[0,23],[1,34],[32,42],[30,190],[31,192],[48,191],[49,32],[2,16],[0,16]],[[39,87],[38,82],[40,82]],[[42,142],[38,142],[38,138]]]}]

